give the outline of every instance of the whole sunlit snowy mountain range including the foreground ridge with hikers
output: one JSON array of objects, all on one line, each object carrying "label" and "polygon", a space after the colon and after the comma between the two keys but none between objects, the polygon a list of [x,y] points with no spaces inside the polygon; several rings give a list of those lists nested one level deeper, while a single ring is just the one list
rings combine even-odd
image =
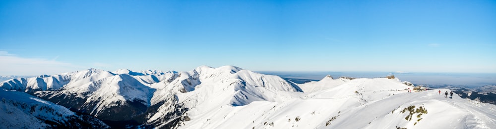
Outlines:
[{"label": "whole sunlit snowy mountain range including the foreground ridge with hikers", "polygon": [[408,93],[412,86],[398,79],[330,76],[296,84],[235,66],[189,72],[88,69],[0,83],[112,128],[496,128],[495,105],[456,94],[445,98],[438,89]]}]

